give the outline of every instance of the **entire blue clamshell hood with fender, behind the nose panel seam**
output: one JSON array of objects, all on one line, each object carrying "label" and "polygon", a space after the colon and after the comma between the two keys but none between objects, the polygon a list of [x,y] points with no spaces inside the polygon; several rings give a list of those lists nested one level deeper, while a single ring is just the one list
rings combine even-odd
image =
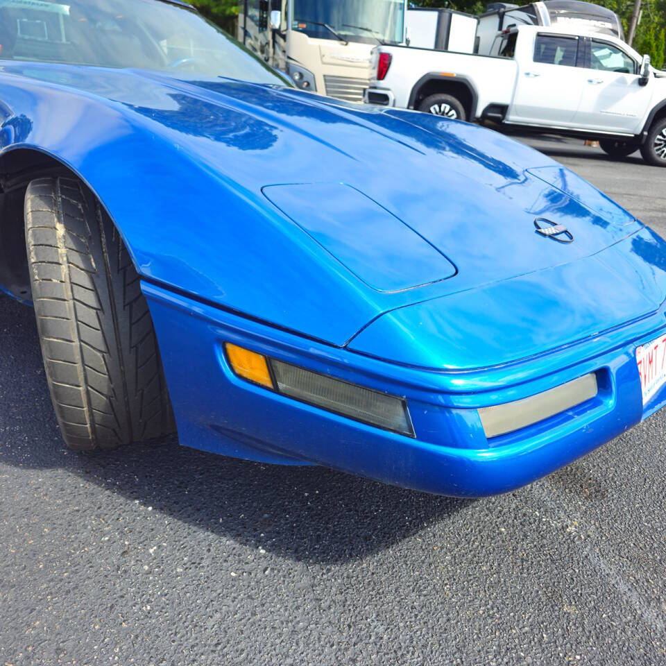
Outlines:
[{"label": "entire blue clamshell hood with fender, behind the nose panel seam", "polygon": [[[62,126],[19,115],[3,131],[96,186],[144,278],[334,345],[391,311],[545,275],[640,228],[549,157],[468,123],[221,78],[3,68],[40,81],[40,113],[67,105],[62,91],[103,101],[103,136],[62,112]],[[196,233],[182,235],[185,220]]]}]

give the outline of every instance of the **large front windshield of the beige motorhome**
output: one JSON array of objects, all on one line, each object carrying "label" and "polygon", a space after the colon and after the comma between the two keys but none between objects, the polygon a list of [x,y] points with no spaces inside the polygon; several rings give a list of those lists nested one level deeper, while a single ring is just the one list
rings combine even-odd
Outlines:
[{"label": "large front windshield of the beige motorhome", "polygon": [[337,39],[323,24],[350,42],[402,42],[403,0],[293,0],[291,28],[322,40]]}]

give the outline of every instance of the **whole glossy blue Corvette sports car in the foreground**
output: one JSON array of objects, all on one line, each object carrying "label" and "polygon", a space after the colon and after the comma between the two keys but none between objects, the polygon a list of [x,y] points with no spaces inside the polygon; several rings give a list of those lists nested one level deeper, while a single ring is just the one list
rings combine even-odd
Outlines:
[{"label": "whole glossy blue Corvette sports car in the foreground", "polygon": [[666,402],[660,237],[497,133],[294,89],[176,0],[0,0],[0,185],[76,450],[177,430],[472,497]]}]

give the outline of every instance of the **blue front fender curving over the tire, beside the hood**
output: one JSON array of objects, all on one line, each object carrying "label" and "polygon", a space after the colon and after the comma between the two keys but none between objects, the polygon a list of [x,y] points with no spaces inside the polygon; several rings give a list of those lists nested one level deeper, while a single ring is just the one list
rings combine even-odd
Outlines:
[{"label": "blue front fender curving over the tire, beside the hood", "polygon": [[[377,314],[368,289],[259,187],[242,187],[233,169],[221,173],[192,151],[185,130],[158,133],[132,105],[0,76],[3,162],[31,148],[76,173],[144,280],[334,345]],[[212,142],[207,149],[219,151]]]}]

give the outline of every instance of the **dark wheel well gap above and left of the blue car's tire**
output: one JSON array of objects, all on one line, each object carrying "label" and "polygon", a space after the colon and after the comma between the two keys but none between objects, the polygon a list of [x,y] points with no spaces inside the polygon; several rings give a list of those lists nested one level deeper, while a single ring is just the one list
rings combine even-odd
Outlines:
[{"label": "dark wheel well gap above and left of the blue car's tire", "polygon": [[23,205],[28,183],[67,174],[65,164],[40,151],[16,148],[0,156],[0,287],[19,300],[31,300]]}]

